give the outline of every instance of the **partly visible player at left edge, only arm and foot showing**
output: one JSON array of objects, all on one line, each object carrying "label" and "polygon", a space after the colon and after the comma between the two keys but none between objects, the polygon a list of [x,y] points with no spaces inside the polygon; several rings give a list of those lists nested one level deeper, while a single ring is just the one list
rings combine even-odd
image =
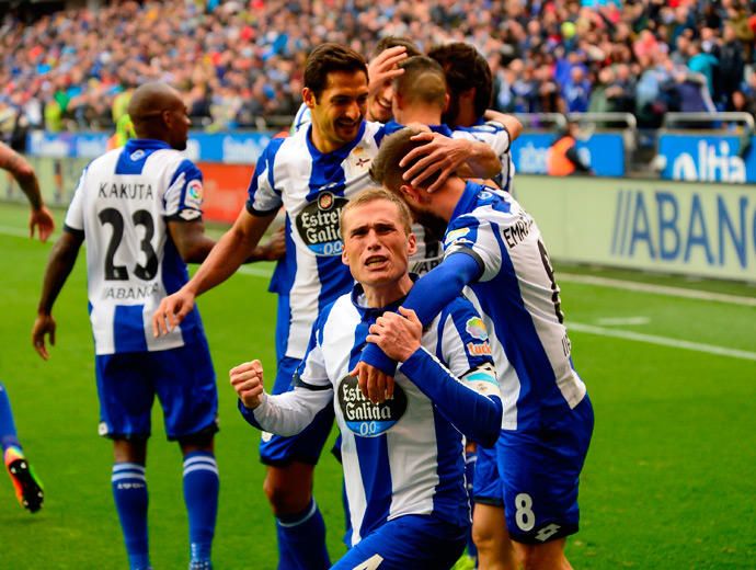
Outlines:
[{"label": "partly visible player at left edge, only arm and foot showing", "polygon": [[[30,202],[32,207],[28,220],[30,237],[33,238],[37,230],[39,241],[47,241],[55,229],[55,219],[42,198],[34,169],[24,157],[2,142],[0,142],[0,169],[11,173]],[[2,383],[0,383],[0,448],[19,503],[32,513],[37,512],[42,509],[44,501],[42,481],[24,456],[13,421],[11,401]]]}]

